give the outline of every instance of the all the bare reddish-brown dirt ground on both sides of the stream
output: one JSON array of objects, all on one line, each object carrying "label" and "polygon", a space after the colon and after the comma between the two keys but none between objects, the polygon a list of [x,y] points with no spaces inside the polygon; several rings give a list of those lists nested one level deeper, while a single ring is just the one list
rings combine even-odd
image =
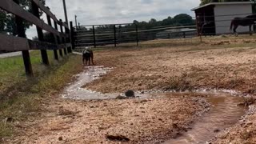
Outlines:
[{"label": "all the bare reddish-brown dirt ground on both sides of the stream", "polygon": [[[255,42],[248,37],[214,37],[202,43],[193,39],[162,40],[142,42],[138,48],[95,51],[98,66],[114,69],[84,87],[102,93],[217,89],[255,95]],[[45,105],[39,119],[16,122],[22,133],[8,142],[163,142],[189,129],[208,107],[202,95],[184,98],[182,94],[105,101],[53,98]],[[247,115],[214,143],[256,143],[255,118],[255,113]],[[113,141],[113,137],[120,139]]]}]

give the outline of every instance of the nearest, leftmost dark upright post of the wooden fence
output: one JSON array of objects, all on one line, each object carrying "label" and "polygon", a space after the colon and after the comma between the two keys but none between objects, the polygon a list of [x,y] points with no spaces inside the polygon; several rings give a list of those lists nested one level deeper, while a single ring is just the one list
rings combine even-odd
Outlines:
[{"label": "nearest, leftmost dark upright post of the wooden fence", "polygon": [[[18,0],[14,0],[14,2],[19,4]],[[18,37],[26,38],[24,24],[22,21],[23,21],[22,18],[15,16]],[[33,70],[32,70],[31,61],[30,61],[29,50],[22,50],[22,58],[25,66],[26,76],[33,77]]]}]

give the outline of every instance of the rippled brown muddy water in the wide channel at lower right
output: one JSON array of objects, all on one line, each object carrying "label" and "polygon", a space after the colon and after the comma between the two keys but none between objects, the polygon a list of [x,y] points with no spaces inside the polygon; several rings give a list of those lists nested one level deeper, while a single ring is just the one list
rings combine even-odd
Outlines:
[{"label": "rippled brown muddy water in the wide channel at lower right", "polygon": [[237,106],[238,103],[243,102],[242,97],[226,93],[209,92],[206,102],[211,104],[209,112],[198,118],[197,122],[190,126],[190,130],[182,136],[163,143],[191,144],[209,142],[216,134],[236,124],[246,114],[246,110],[248,110],[245,107]]}]

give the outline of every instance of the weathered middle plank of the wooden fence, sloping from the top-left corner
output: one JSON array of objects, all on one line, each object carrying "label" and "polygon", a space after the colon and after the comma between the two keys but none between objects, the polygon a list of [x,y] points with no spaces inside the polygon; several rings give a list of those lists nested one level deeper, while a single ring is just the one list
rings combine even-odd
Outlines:
[{"label": "weathered middle plank of the wooden fence, sloping from the top-left corner", "polygon": [[13,1],[10,0],[1,0],[0,2],[0,8],[2,8],[3,10],[6,10],[8,12],[10,12],[11,14],[15,14],[20,18],[25,19],[28,22],[33,23],[36,26],[39,26],[40,28],[42,28],[43,30],[46,30],[50,33],[56,34],[56,35],[60,35],[60,33],[57,30],[54,30],[53,27],[48,26],[45,22],[43,22],[41,19],[38,19],[37,17],[35,17],[33,14],[31,14],[30,12],[22,9],[21,6],[19,6],[18,4],[16,4]]}]

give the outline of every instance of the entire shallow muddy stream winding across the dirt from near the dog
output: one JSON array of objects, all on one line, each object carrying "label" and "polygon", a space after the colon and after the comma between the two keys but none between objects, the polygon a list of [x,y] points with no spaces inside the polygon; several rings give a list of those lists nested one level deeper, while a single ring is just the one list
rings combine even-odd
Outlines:
[{"label": "entire shallow muddy stream winding across the dirt from near the dog", "polygon": [[[64,94],[62,94],[62,98],[82,100],[116,98],[118,94],[101,94],[82,88],[86,83],[101,78],[102,75],[111,70],[111,68],[106,68],[104,66],[86,67],[84,72],[77,75],[77,81],[66,87]],[[164,142],[164,144],[206,143],[213,139],[218,132],[233,126],[244,114],[246,114],[245,107],[237,106],[238,103],[243,102],[242,97],[218,91],[199,91],[198,93],[203,93],[209,96],[206,98],[206,101],[212,105],[210,111],[198,118],[198,120],[191,126],[191,130],[188,130],[188,132],[178,138]],[[162,95],[162,92],[154,94]],[[150,93],[136,93],[136,96],[138,96],[138,98],[146,98],[150,96]]]}]

